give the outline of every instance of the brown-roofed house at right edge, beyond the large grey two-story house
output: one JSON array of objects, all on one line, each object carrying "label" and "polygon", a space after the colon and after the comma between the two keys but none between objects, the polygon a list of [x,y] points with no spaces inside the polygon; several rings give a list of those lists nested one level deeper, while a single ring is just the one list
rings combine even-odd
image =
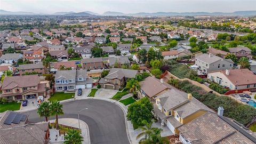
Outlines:
[{"label": "brown-roofed house at right edge, beyond the large grey two-story house", "polygon": [[238,59],[241,57],[246,57],[249,60],[252,59],[252,50],[250,50],[248,47],[232,47],[228,48],[228,50],[231,54],[235,54]]}]

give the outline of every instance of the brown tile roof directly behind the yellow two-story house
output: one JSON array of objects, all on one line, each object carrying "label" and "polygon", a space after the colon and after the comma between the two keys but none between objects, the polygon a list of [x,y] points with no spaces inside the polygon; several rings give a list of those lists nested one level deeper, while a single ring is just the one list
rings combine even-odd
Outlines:
[{"label": "brown tile roof directly behind the yellow two-story house", "polygon": [[144,81],[140,82],[140,89],[151,98],[166,89],[172,89],[172,86],[166,82],[161,83],[160,79],[149,76]]}]

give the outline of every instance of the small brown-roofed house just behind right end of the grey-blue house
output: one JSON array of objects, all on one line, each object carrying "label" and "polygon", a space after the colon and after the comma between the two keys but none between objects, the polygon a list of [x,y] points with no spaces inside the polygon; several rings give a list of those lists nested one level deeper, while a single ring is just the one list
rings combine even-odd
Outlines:
[{"label": "small brown-roofed house just behind right end of the grey-blue house", "polygon": [[104,68],[102,58],[90,58],[90,59],[82,59],[82,67],[83,69],[102,69]]}]

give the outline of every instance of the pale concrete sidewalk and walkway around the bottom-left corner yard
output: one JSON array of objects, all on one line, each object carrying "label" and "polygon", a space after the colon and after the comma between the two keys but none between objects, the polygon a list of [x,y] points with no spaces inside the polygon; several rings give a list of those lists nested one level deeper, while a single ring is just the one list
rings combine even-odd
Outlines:
[{"label": "pale concrete sidewalk and walkway around the bottom-left corner yard", "polygon": [[[50,123],[55,122],[54,120],[51,120]],[[79,127],[78,125],[78,119],[76,118],[59,118],[59,124],[63,124],[63,125],[67,125],[67,126],[71,126],[71,127]],[[82,130],[82,137],[84,138],[84,141],[82,142],[83,144],[90,144],[90,133],[89,133],[89,127],[88,125],[80,120],[80,128]],[[56,135],[58,135],[58,137],[56,137]],[[59,136],[59,131],[56,129],[50,129],[50,142],[51,143],[63,143],[64,140],[64,136],[61,135]],[[55,141],[55,139],[57,139],[57,141]]]}]

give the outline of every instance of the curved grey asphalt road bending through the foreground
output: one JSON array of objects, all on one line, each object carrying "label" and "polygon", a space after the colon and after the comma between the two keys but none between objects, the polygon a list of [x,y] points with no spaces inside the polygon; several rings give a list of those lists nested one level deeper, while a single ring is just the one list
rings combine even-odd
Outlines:
[{"label": "curved grey asphalt road bending through the foreground", "polygon": [[[77,118],[77,112],[81,120],[89,126],[91,143],[130,143],[125,127],[123,110],[114,103],[103,100],[76,100],[63,103],[64,115],[60,118]],[[26,112],[30,122],[42,122],[44,117],[39,117],[36,110]],[[55,119],[50,117],[50,119]]]}]

